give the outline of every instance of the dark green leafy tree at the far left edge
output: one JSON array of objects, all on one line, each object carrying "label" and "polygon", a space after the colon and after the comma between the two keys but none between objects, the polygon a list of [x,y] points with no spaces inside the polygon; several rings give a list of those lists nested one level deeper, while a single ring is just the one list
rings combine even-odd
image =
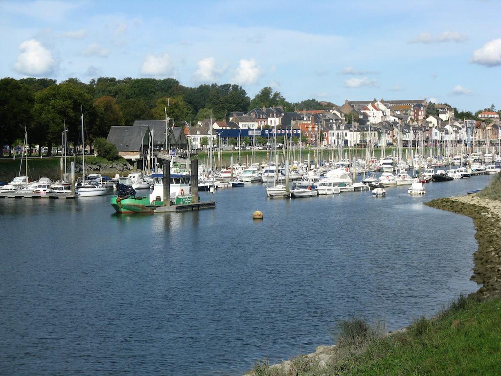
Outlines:
[{"label": "dark green leafy tree at the far left edge", "polygon": [[0,147],[24,135],[32,122],[33,91],[14,78],[0,80]]}]

